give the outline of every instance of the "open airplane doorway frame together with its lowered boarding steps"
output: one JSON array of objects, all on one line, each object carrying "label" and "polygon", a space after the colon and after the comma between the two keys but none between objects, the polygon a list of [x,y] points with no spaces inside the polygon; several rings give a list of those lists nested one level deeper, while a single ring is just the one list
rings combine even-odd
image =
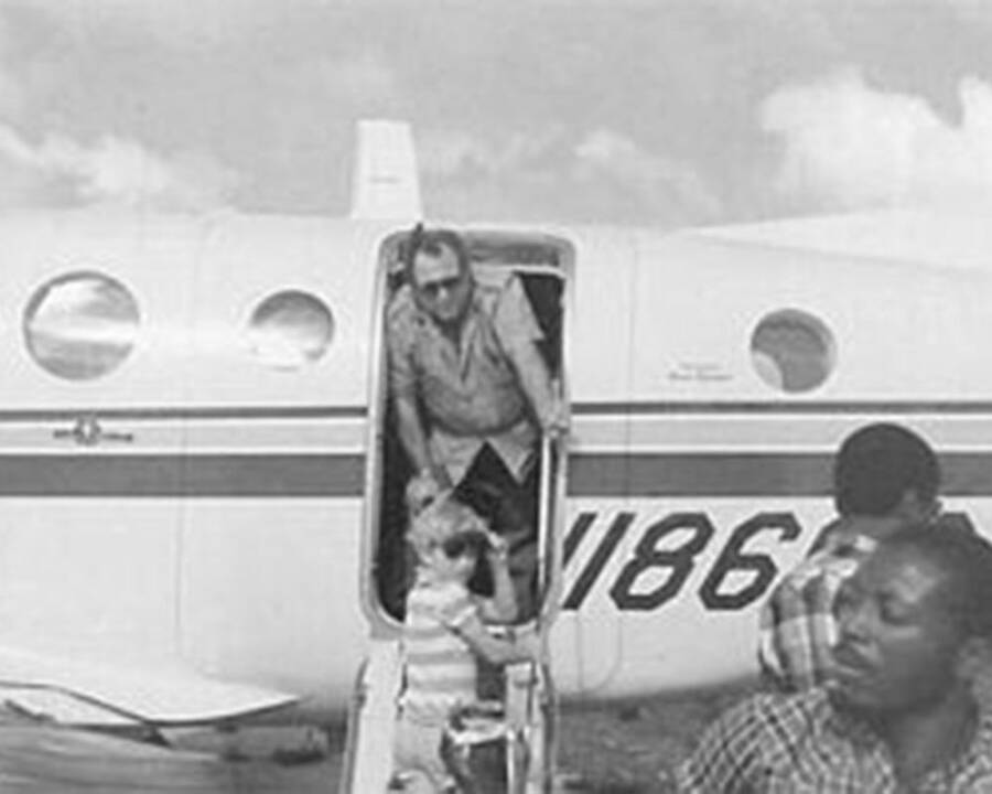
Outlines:
[{"label": "open airplane doorway frame together with its lowered boarding steps", "polygon": [[[473,268],[481,278],[509,270],[520,279],[543,336],[538,343],[541,355],[557,388],[567,398],[563,331],[565,297],[573,272],[572,247],[544,234],[456,230],[463,236]],[[399,232],[387,236],[378,251],[379,278],[374,315],[379,321],[371,345],[373,394],[369,399],[362,578],[369,653],[359,672],[348,715],[343,794],[384,792],[392,776],[393,730],[403,678],[402,619],[406,590],[412,573],[405,540],[403,490],[412,472],[399,443],[388,398],[385,318],[393,296],[405,286],[402,251],[409,234]],[[470,758],[468,766],[478,766],[478,773],[486,774],[487,781],[495,754],[498,786],[507,792],[548,792],[553,782],[558,702],[548,634],[560,602],[565,458],[563,442],[541,439],[537,461],[537,509],[532,532],[526,540],[530,546],[524,555],[531,566],[532,604],[521,615],[520,623],[493,627],[494,633],[505,635],[537,632],[541,648],[539,658],[506,668],[499,682],[502,696],[495,698],[496,702],[487,699],[479,716],[464,720],[451,736],[455,748]],[[504,749],[476,752],[476,745],[502,745]],[[472,759],[479,759],[479,762]]]}]

